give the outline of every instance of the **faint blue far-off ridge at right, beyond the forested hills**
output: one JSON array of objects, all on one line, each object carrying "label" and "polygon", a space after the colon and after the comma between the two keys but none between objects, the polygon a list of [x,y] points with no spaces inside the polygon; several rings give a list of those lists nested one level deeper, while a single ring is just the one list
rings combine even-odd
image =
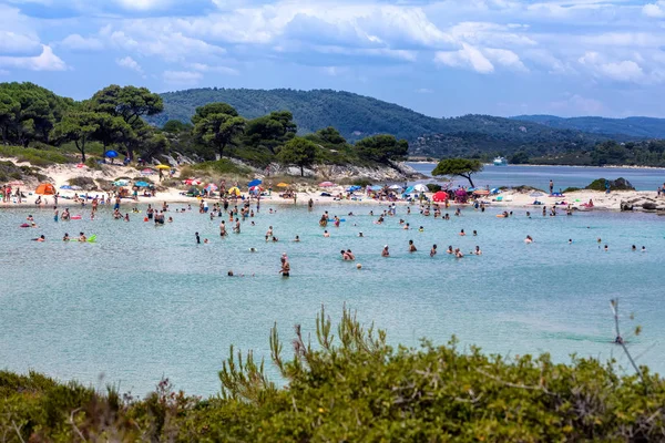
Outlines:
[{"label": "faint blue far-off ridge at right, beyond the forested hills", "polygon": [[627,135],[640,138],[665,138],[665,119],[653,117],[572,117],[554,115],[518,115],[511,117],[523,122],[540,123],[559,130],[576,130],[591,134]]}]

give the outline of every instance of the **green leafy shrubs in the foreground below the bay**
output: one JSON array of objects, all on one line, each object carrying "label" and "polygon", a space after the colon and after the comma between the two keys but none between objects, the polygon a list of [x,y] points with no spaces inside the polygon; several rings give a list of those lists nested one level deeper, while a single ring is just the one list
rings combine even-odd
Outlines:
[{"label": "green leafy shrubs in the foreground below the bay", "polygon": [[[219,372],[222,396],[172,392],[167,381],[143,401],[121,401],[38,374],[0,375],[0,432],[19,441],[204,442],[657,442],[665,435],[665,383],[644,381],[612,362],[548,354],[507,360],[452,340],[419,349],[390,347],[350,312],[332,333],[324,310],[317,346],[296,327],[291,360],[276,329],[273,363],[286,385],[264,373],[252,352]],[[608,344],[610,346],[610,344]],[[17,421],[18,420],[18,421]],[[72,424],[73,423],[73,424]],[[13,435],[13,436],[12,436]]]}]

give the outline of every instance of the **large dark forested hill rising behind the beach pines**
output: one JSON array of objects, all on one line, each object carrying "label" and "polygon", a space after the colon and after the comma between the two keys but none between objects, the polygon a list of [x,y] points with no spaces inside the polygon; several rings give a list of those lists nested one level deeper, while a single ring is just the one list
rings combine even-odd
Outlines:
[{"label": "large dark forested hill rising behind the beach pines", "polygon": [[606,138],[580,130],[490,115],[434,119],[397,104],[331,90],[195,89],[164,93],[162,97],[164,112],[151,119],[157,125],[168,120],[188,122],[197,106],[225,102],[247,119],[290,111],[300,133],[334,126],[351,142],[374,134],[392,134],[409,141],[412,154],[436,157],[510,155],[518,151],[555,154]]}]

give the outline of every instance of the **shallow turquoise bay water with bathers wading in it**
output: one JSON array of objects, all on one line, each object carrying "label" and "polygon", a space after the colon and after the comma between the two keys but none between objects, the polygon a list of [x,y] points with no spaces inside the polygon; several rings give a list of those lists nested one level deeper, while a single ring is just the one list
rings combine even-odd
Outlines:
[{"label": "shallow turquoise bay water with bathers wading in it", "polygon": [[[277,322],[288,354],[294,324],[315,337],[321,305],[335,320],[345,303],[386,329],[391,343],[446,343],[454,334],[461,349],[550,352],[556,361],[572,353],[614,357],[627,367],[612,344],[610,299],[620,298],[630,349],[640,363],[665,370],[665,217],[542,217],[536,210],[528,218],[520,209],[502,219],[490,208],[463,209],[444,222],[399,207],[397,217],[376,225],[368,213],[378,207],[275,207],[269,214],[264,203],[256,226],[247,222],[226,239],[218,236],[219,219],[197,212],[171,213],[174,223],[155,227],[143,214],[114,220],[109,208],[95,220],[58,223],[50,210],[0,210],[0,368],[93,387],[115,383],[139,395],[167,377],[176,389],[215,394],[231,344],[268,357]],[[324,210],[346,219],[328,227],[330,238],[318,226]],[[19,228],[29,214],[39,227]],[[423,231],[403,230],[400,217]],[[268,226],[278,243],[265,243]],[[469,236],[459,236],[461,229]],[[98,241],[63,243],[65,231],[94,234]],[[196,245],[195,231],[211,243]],[[41,234],[45,243],[31,241]],[[523,243],[528,234],[534,244]],[[290,241],[296,235],[301,243]],[[418,253],[407,251],[409,239]],[[386,244],[389,258],[380,257]],[[633,244],[646,253],[631,251]],[[444,253],[448,245],[466,253],[479,245],[483,255],[456,259]],[[342,248],[356,254],[361,270],[340,259]],[[290,258],[290,278],[278,275],[282,253]],[[245,277],[227,277],[229,269]],[[643,332],[633,337],[637,324]],[[272,364],[267,370],[279,381]]]}]

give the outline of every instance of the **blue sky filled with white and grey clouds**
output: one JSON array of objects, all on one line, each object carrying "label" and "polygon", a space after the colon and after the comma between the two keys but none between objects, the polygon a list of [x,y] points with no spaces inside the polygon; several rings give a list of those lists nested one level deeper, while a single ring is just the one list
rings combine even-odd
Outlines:
[{"label": "blue sky filled with white and grey clouds", "polygon": [[665,0],[0,0],[0,82],[332,89],[432,116],[665,117]]}]

